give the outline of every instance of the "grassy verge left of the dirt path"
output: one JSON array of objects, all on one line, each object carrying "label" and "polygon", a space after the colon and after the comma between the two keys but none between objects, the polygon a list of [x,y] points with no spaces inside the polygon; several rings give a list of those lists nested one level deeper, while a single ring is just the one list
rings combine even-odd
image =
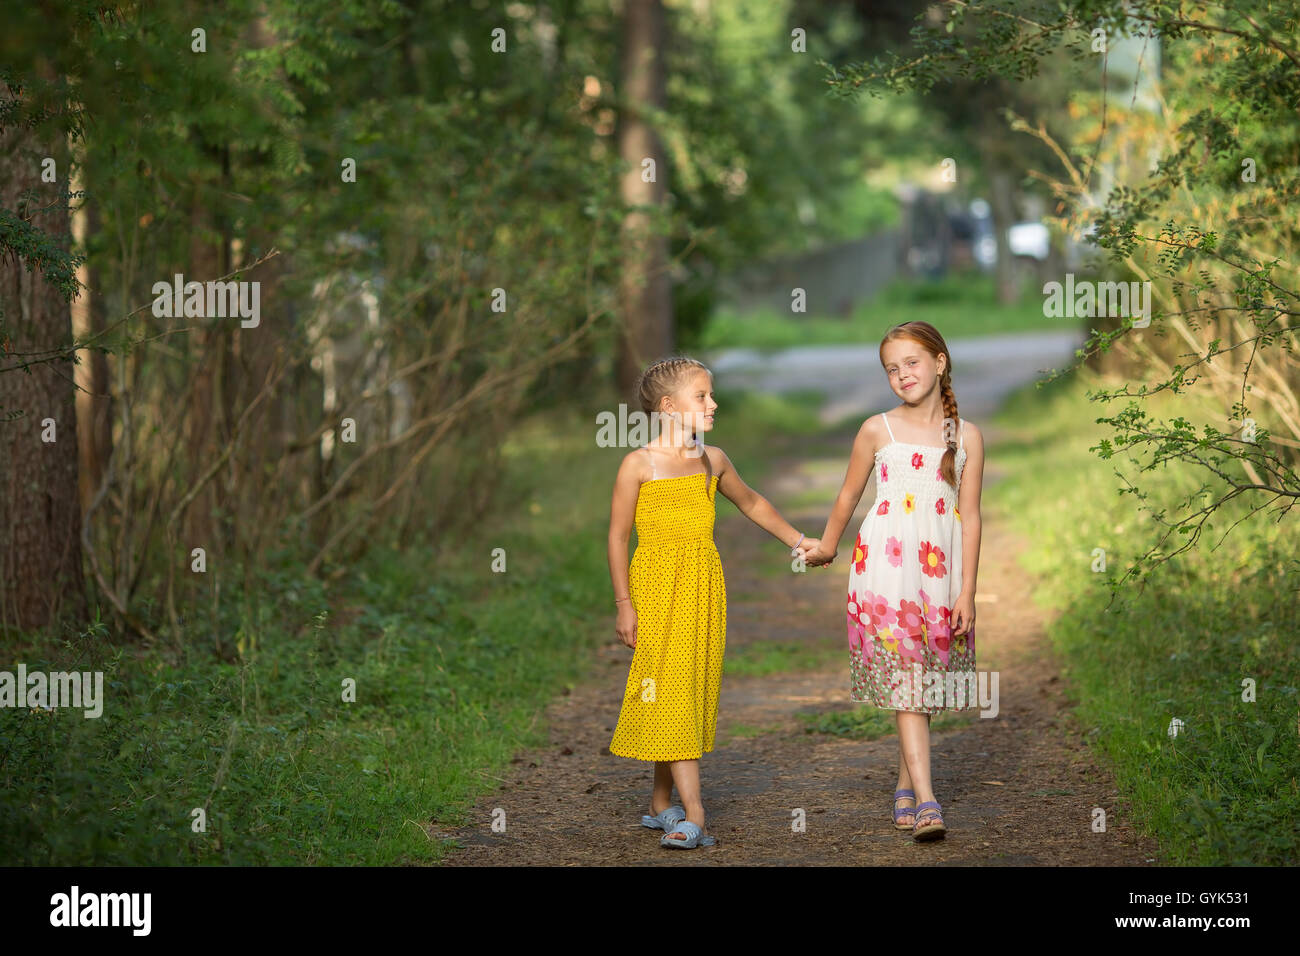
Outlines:
[{"label": "grassy verge left of the dirt path", "polygon": [[[783,429],[816,427],[811,399],[723,401],[715,440],[755,480]],[[211,618],[181,609],[182,652],[104,627],[10,644],[0,669],[103,671],[105,700],[95,719],[0,708],[0,857],[437,862],[437,826],[464,823],[542,741],[546,702],[610,639],[604,536],[625,449],[597,447],[595,431],[577,412],[521,424],[503,503],[472,540],[376,550],[329,587],[291,563],[261,568]],[[237,661],[211,653],[212,628],[234,636]]]}]

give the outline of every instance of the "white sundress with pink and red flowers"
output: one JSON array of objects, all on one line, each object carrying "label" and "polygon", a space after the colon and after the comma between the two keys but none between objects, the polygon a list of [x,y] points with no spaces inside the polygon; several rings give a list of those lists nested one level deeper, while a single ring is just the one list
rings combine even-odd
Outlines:
[{"label": "white sundress with pink and red flowers", "polygon": [[[946,447],[893,441],[876,453],[876,499],[849,568],[853,700],[937,714],[976,706],[975,632],[949,619],[962,589],[957,489],[940,472]],[[961,488],[965,421],[954,463]]]}]

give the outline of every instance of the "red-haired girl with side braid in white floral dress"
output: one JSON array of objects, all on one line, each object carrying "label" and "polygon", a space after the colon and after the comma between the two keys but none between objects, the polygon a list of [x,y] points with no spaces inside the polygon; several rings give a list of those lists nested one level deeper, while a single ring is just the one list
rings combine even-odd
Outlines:
[{"label": "red-haired girl with side braid in white floral dress", "polygon": [[924,842],[946,832],[931,786],[930,715],[978,704],[968,691],[976,685],[984,442],[957,415],[952,358],[937,329],[920,321],[893,328],[880,343],[880,362],[904,403],[863,423],[820,546],[807,562],[831,562],[875,473],[876,499],[849,568],[852,697],[896,711],[893,822]]}]

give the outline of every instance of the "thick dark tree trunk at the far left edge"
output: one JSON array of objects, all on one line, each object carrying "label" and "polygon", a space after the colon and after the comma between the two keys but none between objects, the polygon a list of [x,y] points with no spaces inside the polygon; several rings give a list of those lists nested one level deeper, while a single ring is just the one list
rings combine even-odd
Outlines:
[{"label": "thick dark tree trunk at the far left edge", "polygon": [[[0,83],[0,96],[14,91]],[[42,182],[51,157],[60,182]],[[68,153],[23,125],[0,130],[0,208],[17,212],[66,248]],[[23,191],[35,203],[20,207]],[[47,208],[48,207],[48,208]],[[13,354],[0,352],[0,627],[39,628],[83,618],[77,402],[72,358],[12,369],[18,354],[64,349],[72,313],[58,290],[16,256],[0,259],[0,311]],[[49,441],[48,438],[53,438]]]}]

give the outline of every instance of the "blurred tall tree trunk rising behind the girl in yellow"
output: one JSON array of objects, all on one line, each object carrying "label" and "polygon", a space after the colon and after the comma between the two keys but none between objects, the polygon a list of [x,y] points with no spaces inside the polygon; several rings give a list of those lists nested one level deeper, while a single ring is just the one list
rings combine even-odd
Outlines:
[{"label": "blurred tall tree trunk rising behind the girl in yellow", "polygon": [[[650,234],[650,216],[645,211],[663,207],[667,168],[663,144],[640,109],[641,105],[663,108],[666,103],[663,36],[660,0],[625,0],[619,155],[629,169],[620,182],[628,213],[623,221],[623,334],[618,362],[619,388],[624,394],[630,392],[646,362],[667,355],[673,347],[668,239]],[[654,160],[653,182],[642,178],[646,159]]]}]

